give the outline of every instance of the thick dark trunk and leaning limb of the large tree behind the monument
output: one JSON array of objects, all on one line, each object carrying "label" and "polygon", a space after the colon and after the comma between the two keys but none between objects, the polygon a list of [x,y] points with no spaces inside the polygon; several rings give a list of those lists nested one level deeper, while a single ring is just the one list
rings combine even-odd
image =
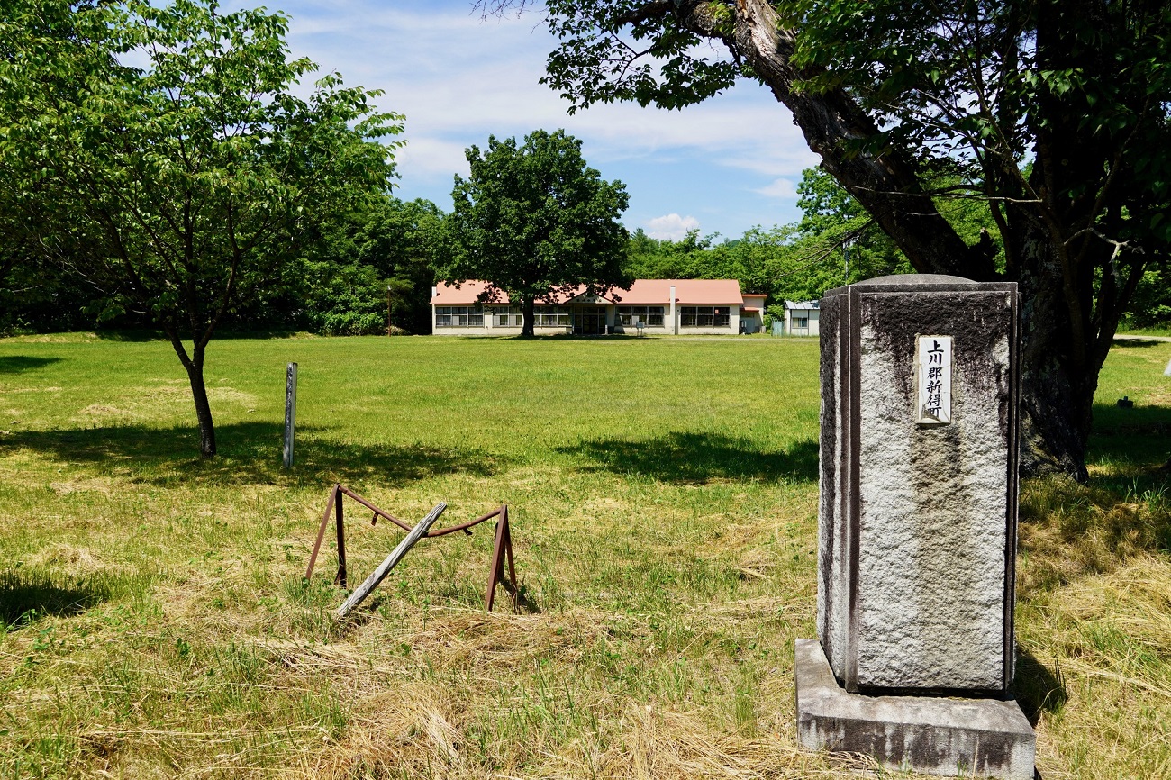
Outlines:
[{"label": "thick dark trunk and leaning limb of the large tree behind the monument", "polygon": [[[656,13],[663,6],[648,4]],[[843,142],[877,135],[878,128],[851,95],[842,89],[810,94],[794,89],[808,74],[790,62],[795,36],[779,23],[765,0],[738,4],[730,33],[704,4],[689,6],[685,22],[694,32],[721,39],[740,53],[753,70],[793,112],[822,166],[857,198],[920,273],[954,274],[974,281],[998,276],[991,241],[967,246],[937,211],[919,184],[916,162],[903,150],[881,156],[851,153]],[[1034,219],[1032,223],[1036,225]],[[1068,271],[1068,256],[1057,246],[1060,231],[1025,228],[1008,239],[1015,253],[1007,278],[1021,295],[1021,468],[1025,473],[1063,472],[1083,480],[1086,443],[1094,391],[1105,360],[1117,312],[1091,327],[1083,296],[1093,306],[1087,280]],[[1064,262],[1063,262],[1064,261]],[[1064,271],[1063,271],[1064,268]]]}]

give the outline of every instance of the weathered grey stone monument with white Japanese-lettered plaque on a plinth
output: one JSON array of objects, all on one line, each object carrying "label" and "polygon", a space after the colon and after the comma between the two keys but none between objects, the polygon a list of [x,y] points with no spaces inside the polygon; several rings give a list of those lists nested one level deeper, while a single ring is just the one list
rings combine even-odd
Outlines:
[{"label": "weathered grey stone monument with white Japanese-lettered plaque on a plinth", "polygon": [[885,276],[821,301],[817,635],[802,745],[1033,778],[1011,699],[1016,285]]}]

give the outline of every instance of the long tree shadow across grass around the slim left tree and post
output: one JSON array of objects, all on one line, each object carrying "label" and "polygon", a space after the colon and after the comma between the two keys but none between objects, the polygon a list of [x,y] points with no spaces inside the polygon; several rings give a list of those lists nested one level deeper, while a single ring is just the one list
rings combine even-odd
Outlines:
[{"label": "long tree shadow across grass around the slim left tree and post", "polygon": [[320,437],[321,429],[297,430],[294,464],[282,470],[285,427],[279,423],[231,423],[215,426],[219,453],[199,458],[194,427],[108,427],[21,431],[0,437],[0,453],[20,447],[59,460],[126,470],[137,481],[321,485],[326,481],[377,481],[389,487],[436,474],[495,473],[499,456],[478,450],[411,445],[354,444]]}]

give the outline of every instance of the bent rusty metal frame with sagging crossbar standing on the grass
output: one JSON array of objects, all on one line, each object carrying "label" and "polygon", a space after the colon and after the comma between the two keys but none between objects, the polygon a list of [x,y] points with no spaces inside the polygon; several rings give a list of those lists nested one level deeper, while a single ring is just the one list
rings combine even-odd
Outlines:
[{"label": "bent rusty metal frame with sagging crossbar standing on the grass", "polygon": [[[399,520],[385,509],[375,506],[370,500],[358,495],[350,488],[342,484],[336,484],[329,490],[329,499],[326,502],[326,511],[321,515],[321,526],[317,528],[317,540],[313,545],[313,553],[309,554],[309,566],[306,567],[304,579],[308,580],[313,576],[313,567],[317,562],[317,554],[321,552],[321,543],[326,539],[326,528],[329,526],[329,514],[333,512],[334,522],[337,528],[337,574],[334,576],[334,583],[345,587],[345,511],[342,505],[343,497],[349,497],[354,501],[370,509],[371,518],[370,525],[377,525],[378,518],[384,518],[390,522],[395,524],[403,531],[410,533],[413,526]],[[468,520],[467,522],[461,522],[458,526],[451,526],[448,528],[440,528],[438,531],[429,531],[425,536],[446,536],[447,534],[453,534],[457,531],[463,531],[468,536],[472,535],[471,528],[478,526],[479,524],[491,520],[492,518],[499,516],[497,521],[497,534],[495,540],[492,546],[492,559],[488,562],[488,588],[487,593],[484,595],[484,608],[487,611],[492,611],[492,604],[495,601],[497,586],[502,586],[508,595],[513,598],[513,607],[515,608],[519,598],[519,588],[516,584],[516,567],[513,561],[513,549],[512,549],[512,531],[508,526],[508,505],[502,504],[498,508],[488,512],[487,514],[481,514],[474,520]],[[508,563],[508,576],[505,577],[505,561]]]}]

